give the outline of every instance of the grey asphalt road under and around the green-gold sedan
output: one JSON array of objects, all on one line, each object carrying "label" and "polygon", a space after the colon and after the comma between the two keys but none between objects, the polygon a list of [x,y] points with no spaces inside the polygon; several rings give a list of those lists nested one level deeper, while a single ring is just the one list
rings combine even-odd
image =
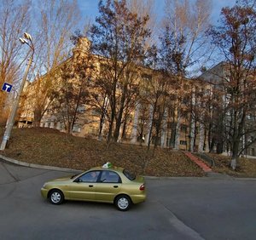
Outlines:
[{"label": "grey asphalt road under and around the green-gold sedan", "polygon": [[147,201],[119,212],[111,204],[45,201],[44,181],[65,174],[0,161],[2,240],[256,239],[256,180],[147,178]]}]

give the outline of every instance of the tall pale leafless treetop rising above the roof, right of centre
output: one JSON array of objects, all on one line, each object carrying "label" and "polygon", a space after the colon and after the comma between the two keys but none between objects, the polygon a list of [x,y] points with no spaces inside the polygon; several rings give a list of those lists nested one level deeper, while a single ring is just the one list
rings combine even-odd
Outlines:
[{"label": "tall pale leafless treetop rising above the roof, right of centre", "polygon": [[189,66],[200,69],[211,53],[206,48],[211,5],[211,0],[166,0],[164,32],[169,31],[173,47],[183,53],[184,70]]}]

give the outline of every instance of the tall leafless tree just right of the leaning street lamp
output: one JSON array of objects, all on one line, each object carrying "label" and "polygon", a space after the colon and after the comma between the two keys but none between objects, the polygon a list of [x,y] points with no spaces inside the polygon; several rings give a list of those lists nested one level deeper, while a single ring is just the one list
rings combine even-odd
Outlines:
[{"label": "tall leafless tree just right of the leaning street lamp", "polygon": [[[49,107],[50,94],[56,88],[55,69],[66,60],[72,43],[70,37],[79,20],[79,7],[76,0],[44,0],[38,4],[35,14],[38,36],[36,41],[36,74],[38,78],[44,76],[44,81],[37,81],[37,91],[32,96],[34,101],[34,124],[38,126],[44,112]],[[35,30],[37,31],[37,30]],[[43,79],[43,78],[42,78]],[[41,80],[42,80],[41,79]]]}]

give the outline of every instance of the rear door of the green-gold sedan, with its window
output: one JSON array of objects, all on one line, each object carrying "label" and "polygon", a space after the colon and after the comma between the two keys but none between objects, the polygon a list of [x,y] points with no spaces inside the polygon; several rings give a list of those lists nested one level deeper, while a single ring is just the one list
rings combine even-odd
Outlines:
[{"label": "rear door of the green-gold sedan, with its window", "polygon": [[96,186],[96,201],[113,202],[122,186],[119,174],[111,170],[102,170]]}]

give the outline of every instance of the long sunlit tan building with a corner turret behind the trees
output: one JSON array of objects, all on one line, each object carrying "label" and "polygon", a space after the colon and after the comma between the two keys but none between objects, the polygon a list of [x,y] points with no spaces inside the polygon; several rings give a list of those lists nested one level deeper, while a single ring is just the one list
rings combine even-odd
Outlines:
[{"label": "long sunlit tan building with a corner turret behind the trees", "polygon": [[[45,79],[49,77],[50,83],[55,84],[56,92],[58,91],[58,83],[63,81],[63,75],[58,74],[62,66],[69,66],[69,71],[75,71],[74,63],[78,60],[84,61],[84,64],[93,65],[90,69],[90,81],[96,79],[96,75],[101,74],[106,60],[101,56],[89,56],[90,42],[85,37],[79,38],[77,46],[73,49],[73,55],[66,61],[61,63],[55,69],[54,74],[46,73],[43,77],[36,79],[32,84],[26,87],[26,102],[23,105],[23,111],[20,115],[19,127],[34,126],[35,114],[37,114],[36,107],[42,99],[40,94],[42,91],[42,84]],[[67,68],[66,68],[67,69]],[[181,150],[190,151],[207,151],[207,128],[202,124],[203,120],[200,117],[195,117],[193,111],[195,106],[201,104],[198,91],[201,95],[209,94],[212,88],[211,84],[199,79],[181,79],[177,77],[164,76],[159,71],[154,71],[143,66],[134,66],[133,74],[136,74],[136,81],[139,83],[140,98],[134,102],[133,108],[129,109],[125,119],[122,121],[119,130],[119,141],[131,143],[151,145],[156,144],[162,147],[172,147]],[[57,73],[56,73],[57,72]],[[73,80],[74,81],[74,80]],[[161,94],[156,101],[156,97],[160,89],[160,84],[165,81],[166,92],[168,92],[168,99],[165,94]],[[88,91],[94,91],[97,94],[98,89],[90,89],[90,84],[87,86]],[[148,93],[152,92],[155,95],[147,98]],[[100,95],[100,94],[99,94]],[[172,97],[170,98],[170,95]],[[186,96],[186,97],[185,97]],[[109,98],[99,97],[104,101],[105,111],[108,111]],[[40,118],[40,127],[59,129],[60,131],[67,131],[67,123],[65,118],[61,116],[63,109],[52,108],[50,104],[58,101],[55,99],[48,99],[44,105],[44,114]],[[43,106],[42,106],[43,107]],[[45,106],[44,106],[45,107]],[[200,107],[197,107],[198,109]],[[197,111],[199,111],[197,109]],[[108,135],[109,123],[108,117],[102,115],[99,107],[90,101],[78,106],[77,117],[73,124],[71,133],[79,137],[95,137],[98,139],[106,139]],[[203,111],[201,112],[203,115]],[[199,115],[199,112],[197,112]]]}]

